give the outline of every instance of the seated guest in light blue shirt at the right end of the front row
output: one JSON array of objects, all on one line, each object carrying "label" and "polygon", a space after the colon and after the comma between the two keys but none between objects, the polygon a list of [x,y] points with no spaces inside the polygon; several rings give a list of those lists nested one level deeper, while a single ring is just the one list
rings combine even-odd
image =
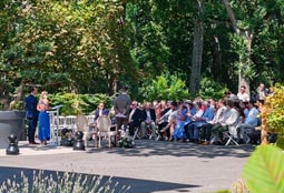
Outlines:
[{"label": "seated guest in light blue shirt at the right end of the front row", "polygon": [[259,118],[258,118],[259,111],[255,106],[255,103],[256,101],[249,100],[247,104],[248,114],[245,118],[245,122],[239,124],[238,126],[238,138],[241,143],[244,140],[245,130],[254,130],[259,123]]}]

